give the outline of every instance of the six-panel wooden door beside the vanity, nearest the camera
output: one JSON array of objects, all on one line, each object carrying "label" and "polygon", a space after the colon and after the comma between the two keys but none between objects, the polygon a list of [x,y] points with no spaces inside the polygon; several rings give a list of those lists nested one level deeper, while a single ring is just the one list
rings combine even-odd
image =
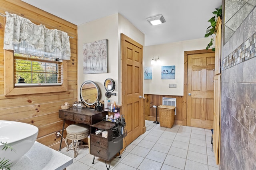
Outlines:
[{"label": "six-panel wooden door beside the vanity, nearest the camera", "polygon": [[121,34],[122,114],[126,119],[127,145],[142,133],[142,51],[143,46]]}]

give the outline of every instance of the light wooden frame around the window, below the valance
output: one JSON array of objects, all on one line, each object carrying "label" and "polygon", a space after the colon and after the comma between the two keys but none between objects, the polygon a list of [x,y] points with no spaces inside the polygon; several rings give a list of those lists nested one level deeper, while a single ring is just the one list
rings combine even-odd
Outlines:
[{"label": "light wooden frame around the window, below the valance", "polygon": [[68,61],[63,60],[63,84],[56,86],[14,86],[14,51],[4,50],[4,96],[64,92],[68,90]]}]

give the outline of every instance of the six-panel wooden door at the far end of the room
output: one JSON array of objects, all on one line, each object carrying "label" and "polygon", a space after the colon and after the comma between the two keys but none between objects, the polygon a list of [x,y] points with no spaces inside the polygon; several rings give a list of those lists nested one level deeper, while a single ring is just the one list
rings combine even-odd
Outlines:
[{"label": "six-panel wooden door at the far end of the room", "polygon": [[214,60],[214,53],[188,55],[188,126],[213,128]]}]

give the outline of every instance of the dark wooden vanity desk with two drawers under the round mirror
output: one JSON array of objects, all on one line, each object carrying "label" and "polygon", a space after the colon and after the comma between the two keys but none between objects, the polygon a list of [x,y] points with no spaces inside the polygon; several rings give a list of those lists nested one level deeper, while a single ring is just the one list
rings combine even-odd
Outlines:
[{"label": "dark wooden vanity desk with two drawers under the round mirror", "polygon": [[[71,107],[70,109],[59,109],[59,118],[64,119],[63,127],[62,127],[62,136],[64,133],[65,121],[70,120],[77,123],[84,123],[87,125],[93,125],[102,121],[102,117],[106,117],[108,114],[107,111],[96,111],[95,109],[89,108],[75,108]],[[61,143],[60,141],[60,150],[61,150]]]}]

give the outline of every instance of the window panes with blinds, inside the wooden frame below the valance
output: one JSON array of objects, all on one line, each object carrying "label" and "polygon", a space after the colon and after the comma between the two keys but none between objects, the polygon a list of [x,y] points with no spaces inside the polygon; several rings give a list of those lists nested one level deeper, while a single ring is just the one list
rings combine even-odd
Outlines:
[{"label": "window panes with blinds, inside the wooden frame below the valance", "polygon": [[62,60],[14,53],[15,86],[62,85]]}]

